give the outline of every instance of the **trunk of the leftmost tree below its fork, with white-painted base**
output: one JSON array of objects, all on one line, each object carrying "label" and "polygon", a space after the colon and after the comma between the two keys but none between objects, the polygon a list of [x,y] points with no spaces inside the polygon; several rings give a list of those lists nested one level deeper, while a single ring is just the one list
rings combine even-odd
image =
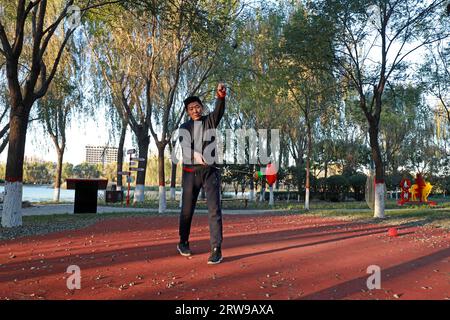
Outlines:
[{"label": "trunk of the leftmost tree below its fork, with white-painted base", "polygon": [[5,198],[2,211],[2,226],[22,225],[22,181],[25,140],[30,108],[11,108],[8,157],[5,173]]}]

